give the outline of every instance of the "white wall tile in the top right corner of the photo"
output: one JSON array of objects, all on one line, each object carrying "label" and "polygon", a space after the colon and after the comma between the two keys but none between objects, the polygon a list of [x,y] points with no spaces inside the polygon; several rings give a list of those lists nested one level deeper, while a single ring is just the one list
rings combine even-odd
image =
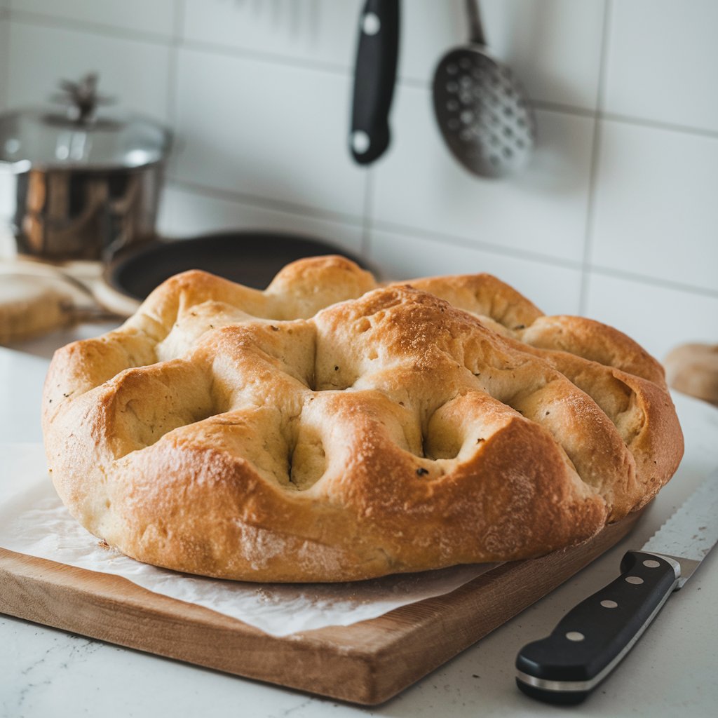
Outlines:
[{"label": "white wall tile in the top right corner of the photo", "polygon": [[715,0],[612,3],[606,109],[718,131],[717,28]]}]

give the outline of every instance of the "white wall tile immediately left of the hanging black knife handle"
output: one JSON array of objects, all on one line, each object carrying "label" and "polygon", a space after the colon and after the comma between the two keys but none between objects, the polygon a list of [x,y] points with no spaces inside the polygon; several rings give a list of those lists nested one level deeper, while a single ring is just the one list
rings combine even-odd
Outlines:
[{"label": "white wall tile immediately left of the hanging black knife handle", "polygon": [[180,50],[177,176],[361,215],[365,172],[346,149],[345,75]]}]

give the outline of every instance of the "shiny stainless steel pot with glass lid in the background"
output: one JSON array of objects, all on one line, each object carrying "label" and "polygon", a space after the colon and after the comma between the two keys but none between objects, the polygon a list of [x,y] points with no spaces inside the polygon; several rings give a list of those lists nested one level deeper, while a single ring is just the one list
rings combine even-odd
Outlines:
[{"label": "shiny stainless steel pot with glass lid in the background", "polygon": [[154,236],[170,134],[136,115],[99,115],[93,75],[63,83],[67,108],[0,116],[0,172],[17,250],[101,259]]}]

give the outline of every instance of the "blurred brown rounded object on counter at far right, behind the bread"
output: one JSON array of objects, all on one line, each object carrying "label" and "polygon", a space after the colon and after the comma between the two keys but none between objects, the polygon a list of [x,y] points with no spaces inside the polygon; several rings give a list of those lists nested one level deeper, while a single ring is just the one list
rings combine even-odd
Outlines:
[{"label": "blurred brown rounded object on counter at far right, behind the bread", "polygon": [[663,361],[668,386],[718,406],[718,344],[683,344]]}]

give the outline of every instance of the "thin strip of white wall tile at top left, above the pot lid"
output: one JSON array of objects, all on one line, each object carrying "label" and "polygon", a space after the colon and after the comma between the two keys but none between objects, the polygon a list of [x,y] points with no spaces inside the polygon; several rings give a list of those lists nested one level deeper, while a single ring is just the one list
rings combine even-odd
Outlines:
[{"label": "thin strip of white wall tile at top left, above the pot lid", "polygon": [[169,37],[176,0],[5,0],[11,9]]}]

